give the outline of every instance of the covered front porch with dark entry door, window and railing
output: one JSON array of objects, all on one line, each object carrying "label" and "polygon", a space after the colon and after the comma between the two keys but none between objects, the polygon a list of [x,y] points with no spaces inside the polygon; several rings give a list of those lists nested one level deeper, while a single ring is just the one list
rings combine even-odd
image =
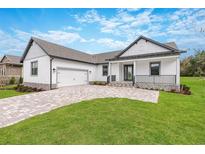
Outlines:
[{"label": "covered front porch with dark entry door, window and railing", "polygon": [[179,65],[179,58],[175,56],[110,61],[108,82],[113,86],[178,89],[180,83]]}]

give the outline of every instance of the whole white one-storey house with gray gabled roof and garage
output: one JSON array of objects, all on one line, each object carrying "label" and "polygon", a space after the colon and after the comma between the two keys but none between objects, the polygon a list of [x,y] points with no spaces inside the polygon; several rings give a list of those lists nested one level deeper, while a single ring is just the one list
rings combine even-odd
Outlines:
[{"label": "whole white one-storey house with gray gabled roof and garage", "polygon": [[174,42],[140,36],[121,51],[87,54],[31,38],[22,56],[24,85],[43,89],[108,81],[115,86],[178,89],[180,53]]}]

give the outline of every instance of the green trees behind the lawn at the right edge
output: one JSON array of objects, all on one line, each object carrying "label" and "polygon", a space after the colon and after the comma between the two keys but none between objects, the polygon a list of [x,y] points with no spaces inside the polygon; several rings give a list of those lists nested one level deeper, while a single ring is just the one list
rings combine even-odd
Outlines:
[{"label": "green trees behind the lawn at the right edge", "polygon": [[181,61],[181,76],[205,76],[205,50]]}]

